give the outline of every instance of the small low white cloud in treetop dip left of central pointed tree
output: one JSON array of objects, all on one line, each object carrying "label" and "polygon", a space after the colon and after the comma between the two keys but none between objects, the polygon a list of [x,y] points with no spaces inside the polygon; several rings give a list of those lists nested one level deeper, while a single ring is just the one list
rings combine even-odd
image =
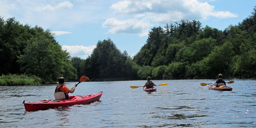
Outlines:
[{"label": "small low white cloud in treetop dip left of central pointed tree", "polygon": [[82,59],[86,59],[96,46],[62,46],[62,50],[67,50],[72,57],[80,57]]}]

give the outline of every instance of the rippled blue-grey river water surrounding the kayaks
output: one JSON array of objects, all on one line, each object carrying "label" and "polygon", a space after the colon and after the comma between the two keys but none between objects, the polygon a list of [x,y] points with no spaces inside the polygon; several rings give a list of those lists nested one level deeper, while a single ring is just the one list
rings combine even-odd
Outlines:
[{"label": "rippled blue-grey river water surrounding the kayaks", "polygon": [[0,127],[256,127],[256,80],[234,80],[224,92],[200,86],[215,80],[153,81],[168,86],[146,93],[130,88],[145,80],[83,82],[70,95],[103,91],[99,102],[35,112],[23,100],[53,99],[56,85],[0,87]]}]

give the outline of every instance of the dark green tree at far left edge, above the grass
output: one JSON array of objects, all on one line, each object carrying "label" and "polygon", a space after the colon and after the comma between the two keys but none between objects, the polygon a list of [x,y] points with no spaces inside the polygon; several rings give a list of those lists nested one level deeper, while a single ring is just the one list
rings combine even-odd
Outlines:
[{"label": "dark green tree at far left edge, above the grass", "polygon": [[17,56],[24,53],[31,37],[32,30],[28,25],[19,24],[15,18],[5,22],[0,16],[0,74],[21,73]]}]

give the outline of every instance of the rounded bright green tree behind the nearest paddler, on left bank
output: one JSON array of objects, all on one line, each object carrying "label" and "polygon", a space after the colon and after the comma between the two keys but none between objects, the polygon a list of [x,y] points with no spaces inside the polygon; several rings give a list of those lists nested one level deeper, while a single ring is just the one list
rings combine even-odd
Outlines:
[{"label": "rounded bright green tree behind the nearest paddler, on left bank", "polygon": [[40,77],[44,82],[56,81],[59,76],[76,79],[76,70],[71,64],[69,53],[61,50],[50,31],[36,29],[36,37],[28,41],[24,55],[18,57],[21,70]]}]

